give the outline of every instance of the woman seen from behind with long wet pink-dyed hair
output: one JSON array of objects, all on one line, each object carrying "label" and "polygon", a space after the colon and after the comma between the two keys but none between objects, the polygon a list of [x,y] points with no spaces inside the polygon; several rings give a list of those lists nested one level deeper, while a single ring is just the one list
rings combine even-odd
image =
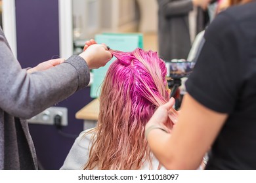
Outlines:
[{"label": "woman seen from behind with long wet pink-dyed hair", "polygon": [[[165,63],[151,50],[110,52],[117,59],[102,84],[96,127],[79,135],[61,169],[161,169],[144,129],[169,101]],[[162,130],[170,132],[176,119],[173,109]]]}]

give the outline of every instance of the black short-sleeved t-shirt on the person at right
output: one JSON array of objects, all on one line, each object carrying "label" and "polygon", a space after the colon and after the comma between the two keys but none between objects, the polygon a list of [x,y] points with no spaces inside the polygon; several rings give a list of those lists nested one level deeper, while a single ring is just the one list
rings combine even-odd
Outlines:
[{"label": "black short-sleeved t-shirt on the person at right", "polygon": [[205,31],[187,92],[227,113],[206,169],[256,169],[256,2],[228,8]]}]

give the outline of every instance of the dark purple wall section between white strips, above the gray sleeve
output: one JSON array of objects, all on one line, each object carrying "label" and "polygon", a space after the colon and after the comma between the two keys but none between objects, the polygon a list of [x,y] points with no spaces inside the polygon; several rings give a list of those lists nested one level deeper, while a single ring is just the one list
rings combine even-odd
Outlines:
[{"label": "dark purple wall section between white strips, above the gray sleeve", "polygon": [[58,0],[16,3],[18,60],[31,67],[59,56]]}]

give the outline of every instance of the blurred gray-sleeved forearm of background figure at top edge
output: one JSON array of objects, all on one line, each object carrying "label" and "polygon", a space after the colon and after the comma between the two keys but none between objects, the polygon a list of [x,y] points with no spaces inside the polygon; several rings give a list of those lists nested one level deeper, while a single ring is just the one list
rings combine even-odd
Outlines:
[{"label": "blurred gray-sleeved forearm of background figure at top edge", "polygon": [[193,10],[193,3],[191,0],[158,0],[159,10],[165,14],[166,18],[171,16],[188,15],[188,12]]}]

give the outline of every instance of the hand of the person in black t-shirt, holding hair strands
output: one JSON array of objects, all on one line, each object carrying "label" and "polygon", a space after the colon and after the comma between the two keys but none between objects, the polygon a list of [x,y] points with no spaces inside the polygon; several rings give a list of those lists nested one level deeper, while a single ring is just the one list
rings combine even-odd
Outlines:
[{"label": "hand of the person in black t-shirt, holding hair strands", "polygon": [[167,103],[158,107],[156,112],[154,112],[153,116],[150,118],[150,120],[146,124],[146,129],[152,125],[157,125],[165,129],[166,131],[169,131],[169,129],[166,129],[165,124],[167,122],[169,113],[171,112],[171,108],[173,108],[174,104],[175,104],[175,99],[172,97],[171,99],[169,99]]}]

